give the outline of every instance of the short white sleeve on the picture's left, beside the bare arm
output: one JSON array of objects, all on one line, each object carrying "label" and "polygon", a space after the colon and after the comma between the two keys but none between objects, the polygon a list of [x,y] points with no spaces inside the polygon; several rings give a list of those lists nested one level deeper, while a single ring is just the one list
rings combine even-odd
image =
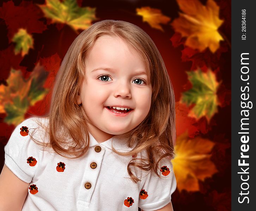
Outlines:
[{"label": "short white sleeve on the picture's left, beside the bare arm", "polygon": [[5,165],[26,183],[32,181],[41,159],[39,146],[30,137],[37,125],[34,120],[30,118],[19,124],[4,147]]}]

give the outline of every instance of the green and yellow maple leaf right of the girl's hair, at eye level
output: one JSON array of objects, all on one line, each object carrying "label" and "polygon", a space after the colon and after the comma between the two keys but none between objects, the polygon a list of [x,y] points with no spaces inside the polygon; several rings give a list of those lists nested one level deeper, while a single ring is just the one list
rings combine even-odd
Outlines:
[{"label": "green and yellow maple leaf right of the girl's hair, at eye level", "polygon": [[188,79],[192,84],[192,88],[183,92],[181,102],[187,104],[195,104],[190,110],[188,116],[200,119],[205,116],[207,121],[217,112],[219,105],[217,89],[219,82],[217,82],[215,74],[208,69],[207,72],[197,71],[187,72]]}]

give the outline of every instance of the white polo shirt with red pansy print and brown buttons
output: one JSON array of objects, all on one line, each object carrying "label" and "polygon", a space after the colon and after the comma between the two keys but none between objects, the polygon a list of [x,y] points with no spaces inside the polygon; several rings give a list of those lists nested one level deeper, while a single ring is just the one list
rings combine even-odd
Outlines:
[{"label": "white polo shirt with red pansy print and brown buttons", "polygon": [[[162,178],[154,172],[135,170],[141,179],[135,184],[127,172],[132,156],[120,156],[111,149],[111,142],[120,152],[132,149],[118,135],[100,144],[90,135],[89,151],[80,158],[67,159],[53,150],[42,151],[42,146],[26,135],[32,130],[36,137],[42,134],[35,118],[17,126],[5,146],[5,165],[19,179],[30,183],[22,210],[138,211],[140,207],[149,211],[158,210],[171,201],[176,179],[169,160],[162,160],[158,168]],[[164,170],[160,171],[161,167]],[[15,191],[15,187],[12,188]]]}]

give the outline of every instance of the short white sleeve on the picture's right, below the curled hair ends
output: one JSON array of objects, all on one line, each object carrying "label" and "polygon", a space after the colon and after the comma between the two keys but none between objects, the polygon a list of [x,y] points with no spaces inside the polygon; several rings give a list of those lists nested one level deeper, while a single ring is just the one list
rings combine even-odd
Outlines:
[{"label": "short white sleeve on the picture's right, below the curled hair ends", "polygon": [[176,190],[176,178],[170,160],[162,159],[159,162],[158,174],[151,171],[145,178],[139,197],[139,207],[144,211],[163,208],[171,202],[171,194]]}]

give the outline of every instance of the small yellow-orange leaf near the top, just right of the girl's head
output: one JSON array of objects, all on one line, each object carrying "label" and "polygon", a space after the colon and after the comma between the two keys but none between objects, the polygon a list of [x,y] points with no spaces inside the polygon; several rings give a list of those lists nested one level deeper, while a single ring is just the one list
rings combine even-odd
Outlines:
[{"label": "small yellow-orange leaf near the top, just right of the girl's head", "polygon": [[160,24],[167,24],[171,18],[163,15],[160,9],[151,7],[136,8],[137,15],[142,16],[142,20],[147,22],[152,28],[164,31]]}]

